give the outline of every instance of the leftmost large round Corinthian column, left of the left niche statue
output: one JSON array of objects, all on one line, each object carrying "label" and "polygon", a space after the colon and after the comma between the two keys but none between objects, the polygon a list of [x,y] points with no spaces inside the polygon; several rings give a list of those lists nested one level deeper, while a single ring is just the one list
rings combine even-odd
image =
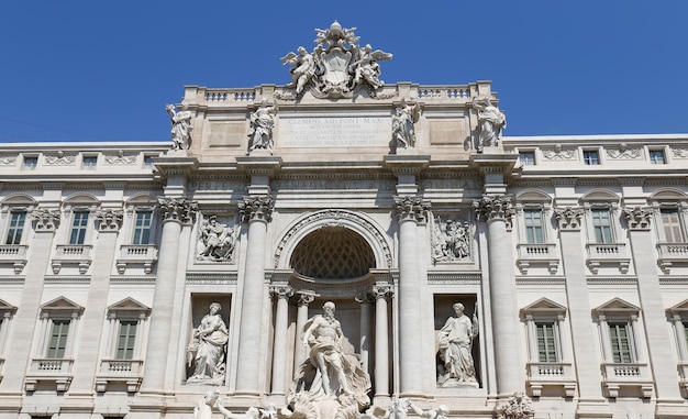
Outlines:
[{"label": "leftmost large round Corinthian column, left of the left niche statue", "polygon": [[160,198],[163,234],[157,263],[155,295],[151,310],[151,332],[144,363],[142,393],[163,393],[165,374],[174,374],[175,368],[167,364],[170,342],[170,324],[177,284],[177,262],[179,260],[179,235],[185,223],[193,222],[198,205],[186,198]]}]

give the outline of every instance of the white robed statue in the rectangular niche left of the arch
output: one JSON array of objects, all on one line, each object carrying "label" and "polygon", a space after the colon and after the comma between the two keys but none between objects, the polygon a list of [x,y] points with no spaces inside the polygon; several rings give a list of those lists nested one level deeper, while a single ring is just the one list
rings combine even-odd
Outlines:
[{"label": "white robed statue in the rectangular niche left of the arch", "polygon": [[226,343],[229,332],[220,316],[222,306],[210,305],[210,312],[203,317],[193,333],[187,350],[193,355],[193,374],[187,383],[221,385],[224,382]]}]

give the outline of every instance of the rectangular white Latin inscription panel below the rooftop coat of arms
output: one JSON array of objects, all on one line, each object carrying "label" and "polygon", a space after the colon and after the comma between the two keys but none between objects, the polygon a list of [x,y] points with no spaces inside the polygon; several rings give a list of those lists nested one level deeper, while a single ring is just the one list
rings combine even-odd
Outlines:
[{"label": "rectangular white Latin inscription panel below the rooftop coat of arms", "polygon": [[390,118],[280,118],[280,147],[382,147],[391,141]]}]

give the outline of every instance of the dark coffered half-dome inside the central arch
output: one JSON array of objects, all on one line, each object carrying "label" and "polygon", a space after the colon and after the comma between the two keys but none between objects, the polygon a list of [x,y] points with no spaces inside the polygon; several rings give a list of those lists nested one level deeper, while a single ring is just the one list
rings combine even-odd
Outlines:
[{"label": "dark coffered half-dome inside the central arch", "polygon": [[375,268],[375,254],[355,231],[322,227],[297,244],[289,264],[299,275],[314,279],[348,279]]}]

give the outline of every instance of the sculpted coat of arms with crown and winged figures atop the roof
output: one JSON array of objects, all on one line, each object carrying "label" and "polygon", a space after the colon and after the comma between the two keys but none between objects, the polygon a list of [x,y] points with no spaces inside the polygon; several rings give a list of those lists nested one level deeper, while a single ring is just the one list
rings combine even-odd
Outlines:
[{"label": "sculpted coat of arms with crown and winged figures atop the roof", "polygon": [[295,99],[307,88],[318,98],[351,98],[360,88],[366,88],[374,97],[385,85],[379,79],[378,62],[389,60],[392,55],[373,51],[369,44],[358,45],[354,31],[356,27],[342,27],[334,21],[329,29],[315,29],[318,37],[312,52],[299,46],[297,53],[279,58],[282,64],[292,65],[287,88],[295,89]]}]

